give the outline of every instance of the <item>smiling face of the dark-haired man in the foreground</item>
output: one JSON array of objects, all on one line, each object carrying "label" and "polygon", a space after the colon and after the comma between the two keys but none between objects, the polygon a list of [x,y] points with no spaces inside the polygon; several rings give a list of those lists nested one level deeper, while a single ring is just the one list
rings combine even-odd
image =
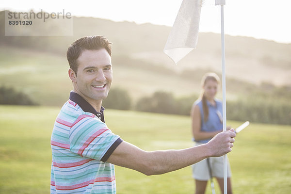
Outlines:
[{"label": "smiling face of the dark-haired man in the foreground", "polygon": [[106,49],[84,50],[77,62],[77,76],[74,79],[70,76],[74,92],[91,105],[101,103],[107,97],[112,83],[110,55]]}]

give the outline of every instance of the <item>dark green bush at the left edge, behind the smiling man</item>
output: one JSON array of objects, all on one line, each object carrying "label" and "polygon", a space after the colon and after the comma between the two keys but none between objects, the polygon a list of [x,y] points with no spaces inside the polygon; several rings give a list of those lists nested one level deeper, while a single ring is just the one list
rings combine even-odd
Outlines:
[{"label": "dark green bush at the left edge, behind the smiling man", "polygon": [[0,104],[38,105],[28,95],[5,86],[0,87]]}]

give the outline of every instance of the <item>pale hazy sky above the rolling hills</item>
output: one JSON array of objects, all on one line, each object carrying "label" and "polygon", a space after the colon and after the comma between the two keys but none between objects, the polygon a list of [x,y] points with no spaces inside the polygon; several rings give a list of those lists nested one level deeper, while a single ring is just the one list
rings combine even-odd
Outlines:
[{"label": "pale hazy sky above the rolling hills", "polygon": [[[0,10],[41,9],[113,21],[172,26],[182,0],[1,0]],[[214,2],[214,0],[213,0]],[[226,0],[225,33],[291,43],[291,0]],[[199,32],[220,33],[220,6],[204,6]]]}]

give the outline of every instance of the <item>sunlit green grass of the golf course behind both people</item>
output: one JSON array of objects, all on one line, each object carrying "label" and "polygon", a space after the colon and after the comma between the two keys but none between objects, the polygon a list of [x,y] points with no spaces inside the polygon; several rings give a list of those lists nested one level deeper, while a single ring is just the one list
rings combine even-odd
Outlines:
[{"label": "sunlit green grass of the golf course behind both people", "polygon": [[[0,194],[49,193],[50,135],[60,108],[0,106]],[[114,133],[147,151],[193,145],[188,116],[116,110],[105,114]],[[291,193],[290,147],[291,126],[251,123],[228,154],[234,193]],[[115,172],[118,194],[194,193],[191,167],[150,177],[119,166]]]}]

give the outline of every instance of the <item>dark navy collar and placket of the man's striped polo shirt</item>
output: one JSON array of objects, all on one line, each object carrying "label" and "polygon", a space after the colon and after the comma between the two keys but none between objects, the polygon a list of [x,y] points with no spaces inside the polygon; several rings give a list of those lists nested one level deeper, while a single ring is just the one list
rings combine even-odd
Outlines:
[{"label": "dark navy collar and placket of the man's striped polo shirt", "polygon": [[103,123],[104,121],[104,108],[101,106],[100,112],[97,112],[89,102],[87,102],[83,97],[79,94],[71,91],[70,92],[70,100],[76,102],[84,112],[93,113],[95,114]]}]

